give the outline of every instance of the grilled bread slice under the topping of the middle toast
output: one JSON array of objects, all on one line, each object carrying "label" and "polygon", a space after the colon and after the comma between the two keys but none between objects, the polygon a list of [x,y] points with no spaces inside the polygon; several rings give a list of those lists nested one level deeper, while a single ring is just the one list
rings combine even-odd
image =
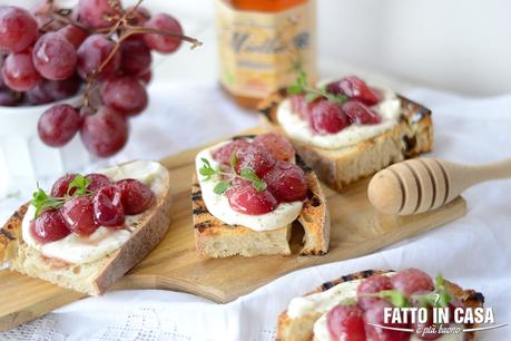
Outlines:
[{"label": "grilled bread slice under the topping of the middle toast", "polygon": [[[296,164],[305,172],[308,195],[302,213],[294,223],[304,228],[303,255],[322,255],[328,251],[330,214],[326,198],[314,172],[299,157]],[[200,185],[194,175],[191,186],[194,233],[196,250],[202,257],[227,257],[232,255],[257,256],[291,254],[292,224],[272,231],[253,231],[240,225],[228,225],[213,216],[204,203]]]}]

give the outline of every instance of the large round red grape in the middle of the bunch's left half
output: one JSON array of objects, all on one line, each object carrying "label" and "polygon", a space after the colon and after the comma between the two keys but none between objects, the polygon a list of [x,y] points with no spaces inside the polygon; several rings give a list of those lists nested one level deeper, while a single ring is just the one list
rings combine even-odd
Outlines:
[{"label": "large round red grape in the middle of the bunch's left half", "polygon": [[32,58],[39,74],[52,80],[71,77],[77,65],[75,47],[57,32],[46,33],[37,40]]}]

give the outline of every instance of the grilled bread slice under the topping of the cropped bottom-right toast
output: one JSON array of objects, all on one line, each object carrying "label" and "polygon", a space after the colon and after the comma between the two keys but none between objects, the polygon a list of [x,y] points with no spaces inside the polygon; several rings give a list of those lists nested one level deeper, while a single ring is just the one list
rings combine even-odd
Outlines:
[{"label": "grilled bread slice under the topping of the cropped bottom-right toast", "polygon": [[[356,272],[353,274],[344,275],[337,280],[325,282],[315,290],[306,293],[304,296],[327,291],[328,289],[344,282],[363,280],[371,276],[383,275],[389,273],[387,270],[366,270]],[[479,308],[483,306],[484,296],[474,290],[463,290],[461,286],[445,281],[445,288],[451,294],[458,298],[465,308]],[[323,312],[324,313],[324,312]],[[297,319],[292,319],[287,314],[287,310],[284,311],[277,321],[277,341],[311,341],[314,340],[314,323],[323,315],[320,312],[312,312],[304,314]],[[474,325],[465,325],[465,328],[474,328]],[[475,340],[475,333],[464,333],[464,341]]]}]

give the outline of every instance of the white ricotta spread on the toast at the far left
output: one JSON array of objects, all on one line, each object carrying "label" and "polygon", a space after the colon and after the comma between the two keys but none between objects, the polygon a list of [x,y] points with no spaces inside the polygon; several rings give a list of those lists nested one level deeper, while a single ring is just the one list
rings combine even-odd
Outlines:
[{"label": "white ricotta spread on the toast at the far left", "polygon": [[[148,185],[158,197],[165,191],[168,170],[156,162],[138,160],[107,169],[97,170],[108,176],[111,181],[135,178]],[[137,228],[136,223],[140,215],[126,216],[124,228],[109,228],[100,226],[88,237],[75,233],[50,242],[39,243],[30,234],[30,222],[36,214],[36,207],[29,206],[22,222],[22,238],[31,247],[39,250],[48,257],[59,259],[73,264],[85,264],[97,261],[118,250],[131,233]],[[144,213],[143,213],[144,214]]]}]

